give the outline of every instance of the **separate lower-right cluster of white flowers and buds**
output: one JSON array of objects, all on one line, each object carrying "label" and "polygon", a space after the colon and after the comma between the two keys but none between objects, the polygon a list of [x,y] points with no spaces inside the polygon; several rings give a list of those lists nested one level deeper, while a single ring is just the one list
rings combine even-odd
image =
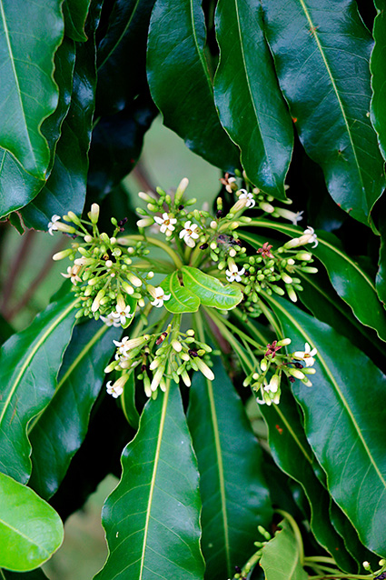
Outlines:
[{"label": "separate lower-right cluster of white flowers and buds", "polygon": [[[288,345],[291,345],[291,338],[274,340],[272,345],[267,345],[267,350],[259,363],[260,368],[246,376],[243,382],[244,386],[251,386],[252,390],[258,394],[256,401],[259,405],[279,404],[283,376],[286,376],[291,383],[299,379],[303,385],[312,386],[308,377],[315,374],[312,366],[315,363],[314,356],[317,355],[316,348],[305,343],[303,351],[295,351],[288,355],[278,352],[283,346]],[[262,398],[259,398],[259,395]]]}]

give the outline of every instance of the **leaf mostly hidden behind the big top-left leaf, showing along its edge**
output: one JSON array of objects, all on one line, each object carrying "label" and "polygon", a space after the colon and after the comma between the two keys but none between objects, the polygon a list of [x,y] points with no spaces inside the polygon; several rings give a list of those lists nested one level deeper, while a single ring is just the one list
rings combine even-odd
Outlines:
[{"label": "leaf mostly hidden behind the big top-left leaf, showing along its edge", "polygon": [[[54,148],[71,102],[74,62],[74,43],[64,38],[54,59],[54,80],[59,87],[58,105],[54,114],[45,119],[41,127],[51,153],[45,179],[52,170]],[[45,185],[45,179],[38,179],[28,174],[14,155],[0,148],[0,216],[5,216],[28,204]]]}]

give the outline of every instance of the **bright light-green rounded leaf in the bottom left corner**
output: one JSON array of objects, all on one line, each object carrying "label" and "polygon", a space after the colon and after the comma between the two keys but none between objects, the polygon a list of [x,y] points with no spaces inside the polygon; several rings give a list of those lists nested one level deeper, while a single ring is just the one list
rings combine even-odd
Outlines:
[{"label": "bright light-green rounded leaf in the bottom left corner", "polygon": [[62,521],[32,489],[2,473],[0,496],[0,566],[33,570],[62,544]]}]

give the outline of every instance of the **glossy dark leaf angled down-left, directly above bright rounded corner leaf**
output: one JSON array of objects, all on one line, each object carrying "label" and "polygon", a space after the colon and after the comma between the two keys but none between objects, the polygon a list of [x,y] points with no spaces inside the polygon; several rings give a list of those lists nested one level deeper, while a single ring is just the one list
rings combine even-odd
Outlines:
[{"label": "glossy dark leaf angled down-left, directly above bright rounded corner leaf", "polygon": [[45,499],[54,495],[84,441],[91,409],[104,382],[104,367],[115,350],[113,339],[121,334],[122,329],[94,320],[75,326],[54,397],[29,425],[33,453],[28,485]]}]

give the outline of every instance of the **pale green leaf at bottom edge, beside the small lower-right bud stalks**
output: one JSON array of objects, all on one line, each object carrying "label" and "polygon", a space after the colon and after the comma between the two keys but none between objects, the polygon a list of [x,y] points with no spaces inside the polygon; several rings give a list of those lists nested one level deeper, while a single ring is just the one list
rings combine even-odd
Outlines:
[{"label": "pale green leaf at bottom edge, beside the small lower-right bud stalks", "polygon": [[292,527],[287,520],[268,544],[262,548],[260,565],[266,580],[307,580],[303,570],[301,554]]}]

